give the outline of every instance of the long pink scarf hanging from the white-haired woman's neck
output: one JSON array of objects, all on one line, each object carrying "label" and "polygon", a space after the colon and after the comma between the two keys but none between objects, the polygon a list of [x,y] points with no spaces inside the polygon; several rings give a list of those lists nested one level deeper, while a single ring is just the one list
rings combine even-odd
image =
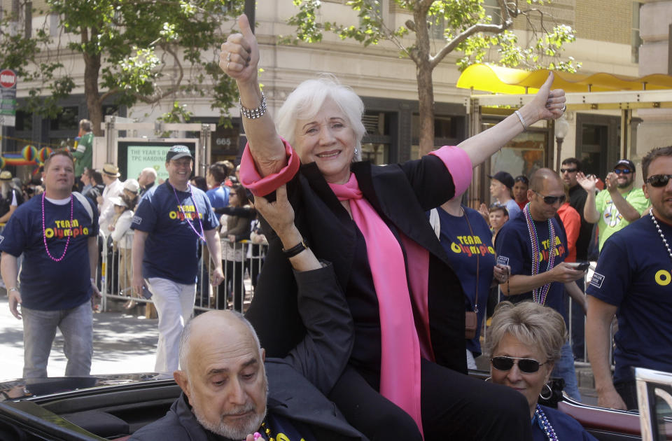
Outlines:
[{"label": "long pink scarf hanging from the white-haired woman's neck", "polygon": [[371,204],[363,199],[354,174],[347,183],[329,186],[339,201],[350,202],[353,221],[366,242],[380,314],[380,393],[412,416],[422,433],[420,344],[401,247]]}]

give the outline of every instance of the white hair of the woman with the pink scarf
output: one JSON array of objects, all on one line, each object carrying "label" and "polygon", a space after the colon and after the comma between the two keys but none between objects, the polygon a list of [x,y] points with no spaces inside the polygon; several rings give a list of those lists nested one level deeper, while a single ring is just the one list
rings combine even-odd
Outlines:
[{"label": "white hair of the woman with the pink scarf", "polygon": [[361,160],[362,138],[366,132],[362,123],[364,103],[350,87],[342,85],[331,73],[321,73],[319,78],[305,80],[289,94],[276,118],[278,134],[293,146],[296,141],[296,121],[316,116],[326,99],[332,99],[345,114],[355,132],[355,159]]}]

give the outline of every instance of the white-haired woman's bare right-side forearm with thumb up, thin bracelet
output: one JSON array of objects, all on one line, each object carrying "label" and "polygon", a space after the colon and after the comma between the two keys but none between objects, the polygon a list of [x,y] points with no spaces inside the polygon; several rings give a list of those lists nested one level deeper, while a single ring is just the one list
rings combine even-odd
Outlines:
[{"label": "white-haired woman's bare right-side forearm with thumb up, thin bracelet", "polygon": [[469,155],[472,166],[484,162],[504,144],[538,120],[550,120],[562,116],[566,109],[565,91],[551,90],[553,78],[553,73],[550,73],[532,101],[522,106],[518,113],[512,113],[497,125],[465,139],[458,145]]}]

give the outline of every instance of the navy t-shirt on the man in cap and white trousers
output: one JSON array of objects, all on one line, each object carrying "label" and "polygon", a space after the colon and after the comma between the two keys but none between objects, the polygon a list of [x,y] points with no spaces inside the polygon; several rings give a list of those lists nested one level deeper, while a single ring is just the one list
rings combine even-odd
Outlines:
[{"label": "navy t-shirt on the man in cap and white trousers", "polygon": [[193,186],[190,188],[193,200],[190,192],[174,192],[168,181],[142,198],[131,228],[149,233],[142,260],[144,277],[160,277],[186,285],[195,283],[197,232],[203,234],[199,217],[206,231],[219,223],[205,193]]}]

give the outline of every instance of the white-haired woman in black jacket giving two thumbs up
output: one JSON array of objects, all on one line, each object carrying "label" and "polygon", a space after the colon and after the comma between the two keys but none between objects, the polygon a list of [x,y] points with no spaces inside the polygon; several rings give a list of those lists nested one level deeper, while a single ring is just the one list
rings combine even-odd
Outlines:
[{"label": "white-haired woman in black jacket giving two thumbs up", "polygon": [[[528,125],[558,118],[564,92],[552,76],[529,104],[495,127],[420,160],[360,162],[362,100],[333,77],[307,80],[277,116],[258,83],[259,50],[247,18],[222,45],[248,137],[241,183],[266,196],[286,185],[295,237],[270,237],[247,317],[268,356],[304,335],[288,258],[310,246],[334,265],[353,317],[342,375],[323,390],[371,440],[531,439],[524,400],[463,375],[465,295],[425,211],[460,195],[472,167]],[[271,232],[268,232],[269,234]]]}]

